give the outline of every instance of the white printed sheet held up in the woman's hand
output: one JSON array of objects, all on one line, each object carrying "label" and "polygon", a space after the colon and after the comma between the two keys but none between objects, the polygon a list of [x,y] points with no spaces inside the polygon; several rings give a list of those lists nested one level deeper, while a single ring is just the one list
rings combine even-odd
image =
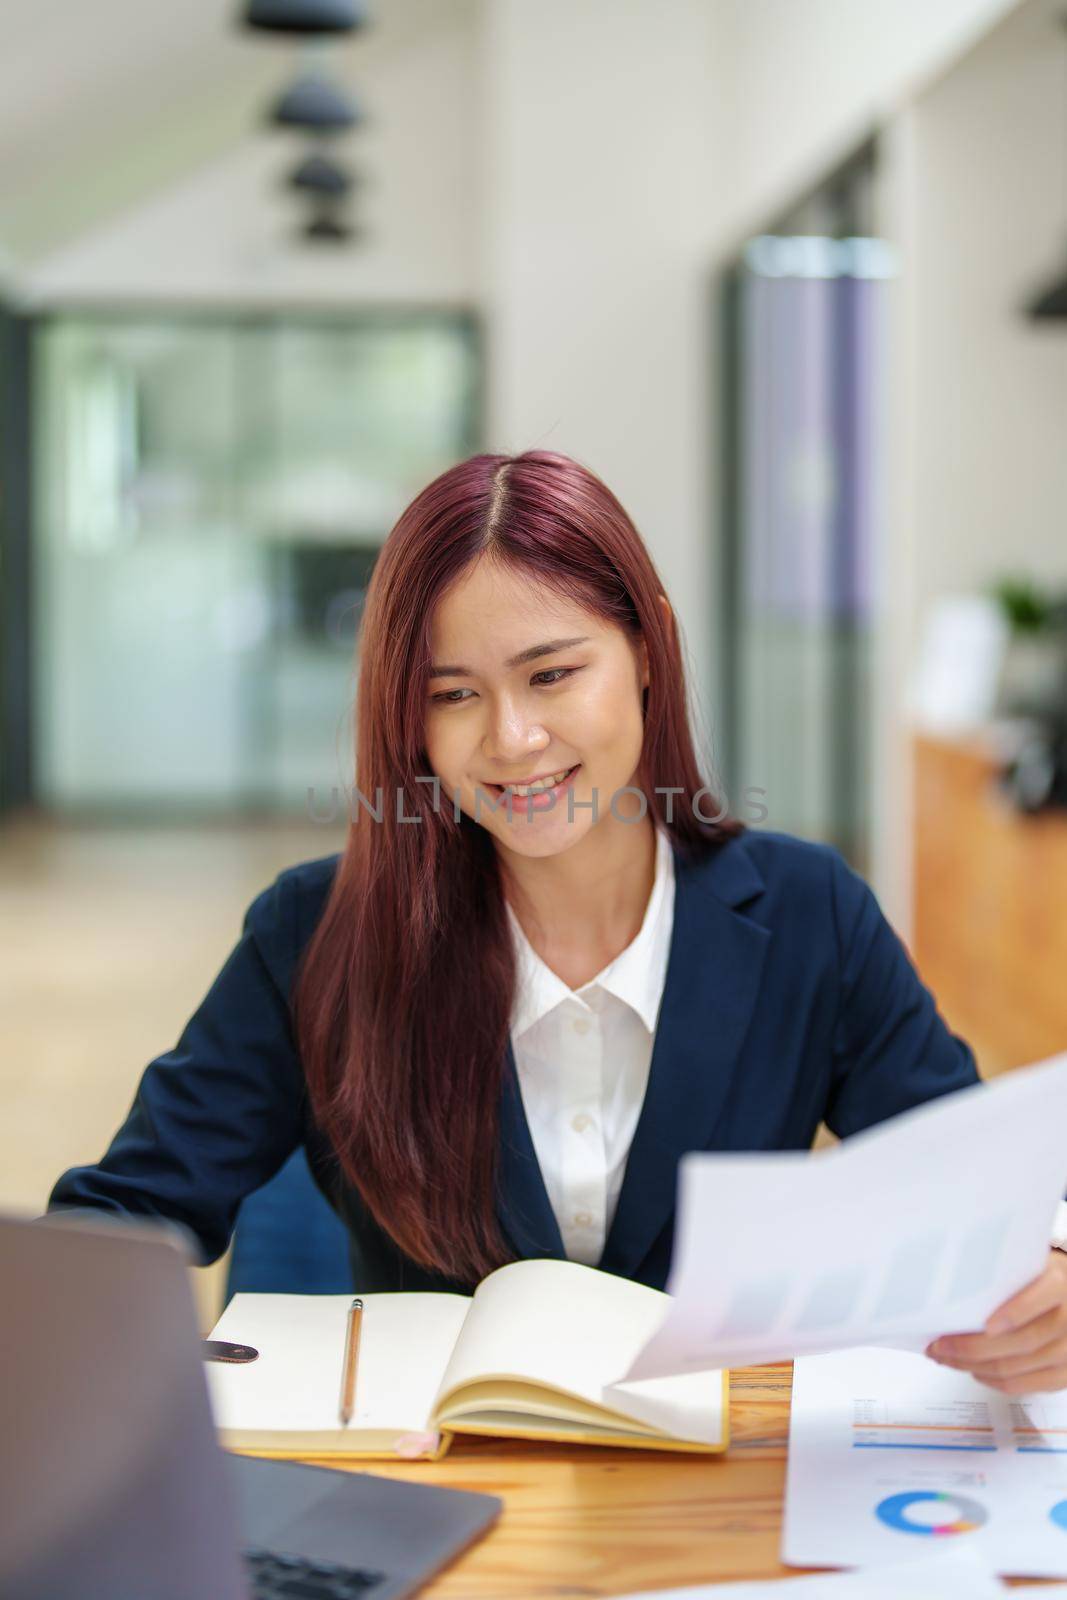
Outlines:
[{"label": "white printed sheet held up in the woman's hand", "polygon": [[617,1382],[981,1330],[1065,1187],[1067,1054],[830,1150],[685,1155],[672,1304]]}]

